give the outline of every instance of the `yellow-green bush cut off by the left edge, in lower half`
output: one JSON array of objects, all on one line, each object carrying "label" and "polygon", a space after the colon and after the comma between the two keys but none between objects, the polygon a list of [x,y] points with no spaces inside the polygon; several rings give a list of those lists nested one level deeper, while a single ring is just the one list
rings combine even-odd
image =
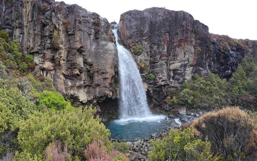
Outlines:
[{"label": "yellow-green bush cut off by the left edge, in lower half", "polygon": [[20,121],[28,119],[34,107],[17,88],[0,88],[0,155],[18,148]]}]

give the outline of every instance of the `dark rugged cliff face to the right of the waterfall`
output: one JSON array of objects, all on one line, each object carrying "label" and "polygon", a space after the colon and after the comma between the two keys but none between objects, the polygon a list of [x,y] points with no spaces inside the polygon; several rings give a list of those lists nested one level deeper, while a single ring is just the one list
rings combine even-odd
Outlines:
[{"label": "dark rugged cliff face to the right of the waterfall", "polygon": [[208,26],[184,11],[153,7],[125,12],[120,16],[119,36],[134,54],[142,77],[155,75],[154,80],[145,77],[152,107],[194,74],[212,72],[230,78],[245,55],[257,60],[257,41],[210,34]]}]

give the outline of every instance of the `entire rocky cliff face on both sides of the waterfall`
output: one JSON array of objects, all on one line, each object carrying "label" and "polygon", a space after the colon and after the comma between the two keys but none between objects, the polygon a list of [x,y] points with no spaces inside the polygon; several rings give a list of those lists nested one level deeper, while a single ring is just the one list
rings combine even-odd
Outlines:
[{"label": "entire rocky cliff face on both sides of the waterfall", "polygon": [[[54,0],[0,0],[0,29],[34,57],[34,75],[53,78],[66,97],[107,104],[118,98],[115,38],[100,15]],[[183,11],[125,12],[119,36],[139,64],[152,107],[195,73],[229,78],[245,55],[257,60],[257,41],[210,34]],[[150,73],[155,79],[146,79]]]}]

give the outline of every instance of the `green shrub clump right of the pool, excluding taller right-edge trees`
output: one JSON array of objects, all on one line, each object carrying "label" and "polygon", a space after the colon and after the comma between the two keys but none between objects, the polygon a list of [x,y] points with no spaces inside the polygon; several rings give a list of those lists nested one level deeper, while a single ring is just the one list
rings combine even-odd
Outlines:
[{"label": "green shrub clump right of the pool, excluding taller right-edge trees", "polygon": [[177,94],[165,100],[170,106],[186,105],[187,108],[217,108],[230,104],[227,94],[227,82],[218,75],[210,73],[208,77],[185,82]]}]

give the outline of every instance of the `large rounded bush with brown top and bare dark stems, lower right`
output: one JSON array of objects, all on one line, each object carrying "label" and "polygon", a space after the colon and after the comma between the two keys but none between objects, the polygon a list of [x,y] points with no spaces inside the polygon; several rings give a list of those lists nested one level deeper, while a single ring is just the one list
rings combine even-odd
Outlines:
[{"label": "large rounded bush with brown top and bare dark stems, lower right", "polygon": [[216,113],[208,113],[194,121],[202,139],[208,136],[212,149],[225,160],[242,160],[254,121],[238,107],[227,107]]}]

